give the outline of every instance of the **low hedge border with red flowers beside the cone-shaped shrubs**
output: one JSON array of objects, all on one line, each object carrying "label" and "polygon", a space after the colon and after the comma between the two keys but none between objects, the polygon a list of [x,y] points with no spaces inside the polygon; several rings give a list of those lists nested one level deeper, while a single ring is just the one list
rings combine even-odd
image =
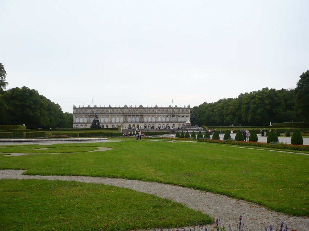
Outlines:
[{"label": "low hedge border with red flowers beside the cone-shaped shrubs", "polygon": [[240,145],[240,146],[249,146],[249,147],[263,147],[271,149],[287,149],[294,151],[307,151],[309,152],[309,145],[294,145],[294,144],[267,144],[260,142],[246,142],[246,141],[234,141],[234,140],[210,140],[210,139],[199,139],[198,142],[206,142],[213,144],[228,144],[228,145]]}]

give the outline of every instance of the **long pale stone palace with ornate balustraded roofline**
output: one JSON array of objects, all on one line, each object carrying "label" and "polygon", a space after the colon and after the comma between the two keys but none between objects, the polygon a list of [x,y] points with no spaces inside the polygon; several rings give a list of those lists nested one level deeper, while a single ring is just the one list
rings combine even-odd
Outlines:
[{"label": "long pale stone palace with ornate balustraded roofline", "polygon": [[123,129],[141,128],[180,128],[190,118],[190,105],[187,107],[76,107],[73,105],[73,128],[90,128],[95,113],[98,114],[102,128]]}]

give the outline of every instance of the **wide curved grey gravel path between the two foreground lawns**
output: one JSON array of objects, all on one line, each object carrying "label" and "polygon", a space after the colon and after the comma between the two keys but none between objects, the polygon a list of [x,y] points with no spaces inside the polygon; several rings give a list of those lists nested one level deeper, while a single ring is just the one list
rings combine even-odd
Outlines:
[{"label": "wide curved grey gravel path between the two foreground lawns", "polygon": [[[276,230],[281,221],[283,221],[285,225],[288,225],[288,227],[296,229],[297,231],[309,230],[308,217],[293,217],[275,211],[269,211],[265,207],[255,203],[236,200],[195,189],[156,182],[90,176],[27,176],[22,175],[23,172],[25,172],[25,170],[0,170],[0,179],[74,180],[86,183],[114,185],[131,188],[139,192],[155,194],[159,197],[169,198],[173,201],[186,204],[191,209],[207,213],[214,218],[218,217],[223,225],[228,227],[230,224],[234,230],[236,229],[239,215],[243,216],[243,223],[245,224],[244,230],[263,231],[265,230],[265,226],[269,227],[270,224],[273,225]],[[214,225],[205,227],[210,230]],[[189,229],[190,227],[185,228]]]}]

